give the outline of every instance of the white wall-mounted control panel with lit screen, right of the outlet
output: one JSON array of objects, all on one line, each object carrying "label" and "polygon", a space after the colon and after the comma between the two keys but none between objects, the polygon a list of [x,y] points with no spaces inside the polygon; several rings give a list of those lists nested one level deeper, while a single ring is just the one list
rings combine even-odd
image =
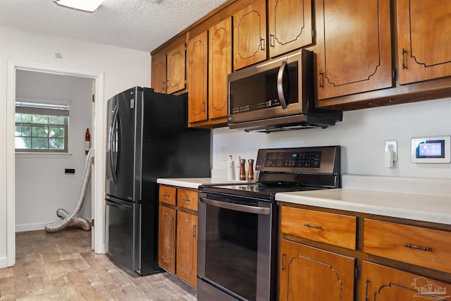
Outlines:
[{"label": "white wall-mounted control panel with lit screen, right of the outlet", "polygon": [[450,163],[450,136],[412,138],[412,163]]}]

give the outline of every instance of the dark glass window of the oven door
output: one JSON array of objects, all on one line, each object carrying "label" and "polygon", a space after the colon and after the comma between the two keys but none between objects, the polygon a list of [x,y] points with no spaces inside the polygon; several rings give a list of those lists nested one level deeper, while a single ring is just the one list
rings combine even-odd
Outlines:
[{"label": "dark glass window of the oven door", "polygon": [[206,206],[205,276],[256,300],[258,214]]}]

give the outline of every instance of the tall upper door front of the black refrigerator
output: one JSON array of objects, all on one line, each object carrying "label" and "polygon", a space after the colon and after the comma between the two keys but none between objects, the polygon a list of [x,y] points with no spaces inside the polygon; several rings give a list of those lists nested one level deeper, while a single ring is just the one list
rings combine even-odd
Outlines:
[{"label": "tall upper door front of the black refrigerator", "polygon": [[142,90],[137,87],[108,101],[106,194],[141,199]]}]

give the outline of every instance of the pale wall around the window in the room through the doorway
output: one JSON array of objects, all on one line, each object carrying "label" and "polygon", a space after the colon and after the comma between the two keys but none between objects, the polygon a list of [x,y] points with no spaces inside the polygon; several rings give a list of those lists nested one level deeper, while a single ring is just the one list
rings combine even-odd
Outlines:
[{"label": "pale wall around the window in the room through the doorway", "polygon": [[[23,102],[69,104],[69,156],[16,154],[16,232],[43,230],[60,221],[59,208],[72,212],[78,203],[85,169],[85,131],[92,132],[92,78],[27,70],[16,72],[16,99]],[[91,135],[92,140],[95,139]],[[75,168],[65,174],[64,168]],[[80,216],[91,220],[91,185]]]}]

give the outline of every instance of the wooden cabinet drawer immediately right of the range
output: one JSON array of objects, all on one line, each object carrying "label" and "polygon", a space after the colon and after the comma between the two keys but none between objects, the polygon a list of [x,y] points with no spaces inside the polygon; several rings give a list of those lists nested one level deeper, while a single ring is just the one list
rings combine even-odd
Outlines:
[{"label": "wooden cabinet drawer immediately right of the range", "polygon": [[357,217],[282,206],[280,231],[330,245],[356,247]]}]

